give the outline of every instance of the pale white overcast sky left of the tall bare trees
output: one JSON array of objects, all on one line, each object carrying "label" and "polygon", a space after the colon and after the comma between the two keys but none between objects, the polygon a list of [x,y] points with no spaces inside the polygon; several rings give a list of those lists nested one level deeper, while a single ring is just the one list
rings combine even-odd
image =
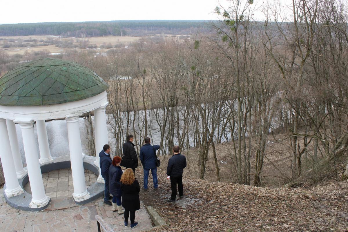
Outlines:
[{"label": "pale white overcast sky left of the tall bare trees", "polygon": [[216,20],[216,0],[4,0],[0,24],[147,19]]}]

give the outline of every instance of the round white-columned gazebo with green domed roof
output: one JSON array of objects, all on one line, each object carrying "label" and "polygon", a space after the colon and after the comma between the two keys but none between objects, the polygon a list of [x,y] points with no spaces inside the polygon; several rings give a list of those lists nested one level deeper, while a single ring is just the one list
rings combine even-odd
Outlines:
[{"label": "round white-columned gazebo with green domed roof", "polygon": [[[18,196],[25,193],[21,181],[29,177],[31,199],[27,210],[37,211],[48,206],[50,198],[45,193],[41,170],[45,165],[54,167],[54,158],[50,154],[45,120],[62,118],[65,118],[68,130],[72,197],[76,203],[86,203],[91,199],[85,185],[79,116],[94,111],[95,150],[98,154],[108,143],[105,115],[108,88],[108,84],[87,67],[53,58],[22,64],[0,78],[0,158],[6,182],[4,195],[10,205],[26,209],[25,202],[14,203],[11,199],[21,201],[23,197]],[[26,168],[23,168],[19,152],[15,123],[22,131]],[[99,170],[98,155],[93,159],[96,170]],[[97,174],[97,182],[103,182],[100,171]]]}]

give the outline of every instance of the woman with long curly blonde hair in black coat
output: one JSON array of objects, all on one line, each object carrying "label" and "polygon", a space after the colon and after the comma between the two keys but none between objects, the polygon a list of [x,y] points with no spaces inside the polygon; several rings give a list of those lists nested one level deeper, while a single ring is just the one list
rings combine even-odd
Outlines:
[{"label": "woman with long curly blonde hair in black coat", "polygon": [[128,217],[130,217],[130,228],[138,223],[135,220],[135,211],[140,209],[139,182],[134,179],[132,168],[127,168],[121,176],[122,206],[125,208],[125,226],[128,226]]}]

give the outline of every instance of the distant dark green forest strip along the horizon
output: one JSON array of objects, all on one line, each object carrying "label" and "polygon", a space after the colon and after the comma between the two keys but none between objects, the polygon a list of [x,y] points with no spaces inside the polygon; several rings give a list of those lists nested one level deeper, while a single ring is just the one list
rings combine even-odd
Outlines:
[{"label": "distant dark green forest strip along the horizon", "polygon": [[109,22],[54,22],[0,24],[0,36],[61,35],[63,37],[143,36],[149,34],[191,34],[208,31],[202,20],[139,20]]}]

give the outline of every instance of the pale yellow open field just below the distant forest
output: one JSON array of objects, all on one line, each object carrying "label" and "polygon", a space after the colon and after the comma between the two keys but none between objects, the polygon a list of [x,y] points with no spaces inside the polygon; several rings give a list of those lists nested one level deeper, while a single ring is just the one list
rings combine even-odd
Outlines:
[{"label": "pale yellow open field just below the distant forest", "polygon": [[[24,40],[47,40],[49,38],[53,39],[59,39],[59,40],[73,40],[75,44],[77,44],[79,41],[82,41],[82,38],[61,38],[61,37],[50,37],[50,36],[11,36],[11,37],[0,37],[0,39],[3,39],[0,41],[0,51],[6,51],[9,55],[14,55],[14,54],[21,54],[24,55],[25,51],[32,52],[32,51],[42,51],[44,49],[47,49],[49,53],[62,53],[66,49],[70,48],[59,48],[56,47],[55,45],[46,45],[46,46],[35,46],[35,47],[10,47],[10,48],[1,48],[3,43],[8,40],[8,39],[14,39],[16,41],[24,41]],[[89,44],[95,44],[97,47],[100,47],[101,45],[104,44],[109,44],[111,43],[112,46],[119,44],[119,43],[129,43],[129,42],[135,42],[138,41],[141,37],[129,37],[129,36],[110,36],[110,37],[90,37],[90,38],[85,38]],[[32,43],[32,42],[30,42]],[[74,49],[74,48],[72,48]]]}]

